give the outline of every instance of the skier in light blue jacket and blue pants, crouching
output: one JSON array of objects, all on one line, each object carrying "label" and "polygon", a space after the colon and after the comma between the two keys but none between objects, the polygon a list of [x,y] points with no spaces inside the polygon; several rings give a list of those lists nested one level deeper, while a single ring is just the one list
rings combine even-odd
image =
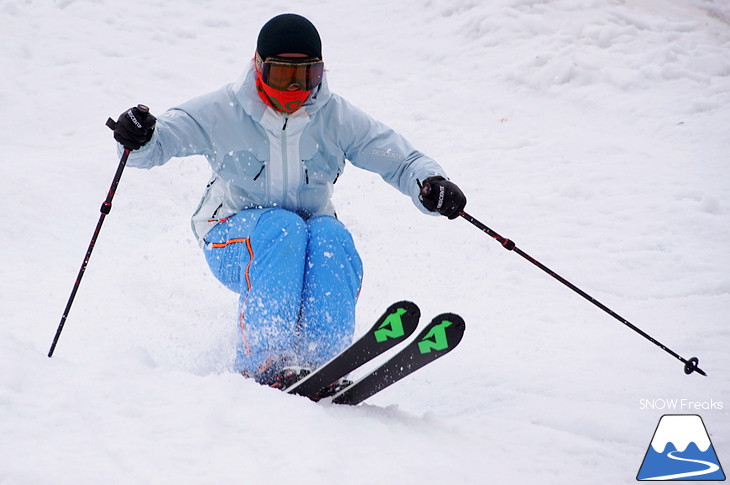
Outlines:
[{"label": "skier in light blue jacket and blue pants, crouching", "polygon": [[261,28],[237,82],[158,118],[130,108],[114,138],[132,167],[208,160],[193,232],[212,273],[240,295],[235,370],[274,387],[353,338],[363,268],[331,200],[346,160],[424,213],[453,219],[466,205],[438,163],[329,90],[319,33],[292,13]]}]

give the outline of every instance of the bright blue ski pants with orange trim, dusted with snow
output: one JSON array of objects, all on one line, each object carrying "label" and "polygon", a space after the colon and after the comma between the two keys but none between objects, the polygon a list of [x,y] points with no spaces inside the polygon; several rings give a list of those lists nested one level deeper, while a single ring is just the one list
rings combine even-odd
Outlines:
[{"label": "bright blue ski pants with orange trim, dusted with snow", "polygon": [[317,367],[352,341],[362,262],[332,216],[249,209],[205,237],[215,277],[240,294],[235,370],[272,360]]}]

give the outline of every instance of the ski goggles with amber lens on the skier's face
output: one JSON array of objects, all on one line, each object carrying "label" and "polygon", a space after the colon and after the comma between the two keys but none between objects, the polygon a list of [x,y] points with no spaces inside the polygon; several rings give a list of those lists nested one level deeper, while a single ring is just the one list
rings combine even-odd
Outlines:
[{"label": "ski goggles with amber lens on the skier's face", "polygon": [[280,91],[288,91],[292,86],[309,91],[322,82],[324,74],[324,62],[317,57],[269,57],[262,61],[257,53],[256,65],[261,73],[261,80]]}]

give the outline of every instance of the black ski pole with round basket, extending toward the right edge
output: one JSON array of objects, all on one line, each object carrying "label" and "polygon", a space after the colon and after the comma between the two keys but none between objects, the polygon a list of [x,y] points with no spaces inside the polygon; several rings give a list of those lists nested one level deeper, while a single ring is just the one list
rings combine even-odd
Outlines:
[{"label": "black ski pole with round basket, extending toward the right edge", "polygon": [[522,256],[523,258],[525,258],[526,260],[528,260],[529,262],[531,262],[532,264],[534,264],[535,266],[537,266],[538,268],[540,268],[541,270],[543,270],[544,272],[546,272],[547,274],[549,274],[550,276],[552,276],[553,278],[555,278],[556,280],[560,281],[562,284],[564,284],[565,286],[567,286],[571,290],[573,290],[576,293],[578,293],[580,296],[582,296],[586,300],[588,300],[591,303],[593,303],[594,305],[596,305],[601,310],[605,311],[606,313],[608,313],[609,315],[611,315],[612,317],[614,317],[619,322],[621,322],[624,325],[626,325],[627,327],[629,327],[634,332],[638,333],[639,335],[641,335],[642,337],[644,337],[645,339],[647,339],[649,342],[657,345],[659,348],[661,348],[662,350],[664,350],[666,353],[668,353],[669,355],[671,355],[675,359],[681,361],[684,364],[684,373],[685,374],[691,374],[692,372],[697,371],[698,373],[702,374],[703,376],[707,376],[707,374],[705,373],[705,371],[703,371],[702,369],[699,368],[699,362],[700,361],[699,361],[699,359],[697,357],[692,357],[690,359],[683,358],[682,356],[680,356],[679,354],[677,354],[676,352],[674,352],[672,349],[670,349],[669,347],[665,346],[664,344],[662,344],[661,342],[659,342],[658,340],[656,340],[655,338],[653,338],[651,335],[649,335],[648,333],[644,332],[643,330],[641,330],[640,328],[638,328],[637,326],[635,326],[634,324],[632,324],[631,322],[629,322],[628,320],[626,320],[624,317],[622,317],[618,313],[614,312],[613,310],[611,310],[610,308],[608,308],[606,305],[604,305],[603,303],[601,303],[600,301],[596,300],[595,298],[593,298],[591,295],[589,295],[585,291],[583,291],[580,288],[578,288],[577,286],[575,286],[573,283],[571,283],[570,281],[566,280],[565,278],[563,278],[562,276],[560,276],[559,274],[557,274],[555,271],[551,270],[550,268],[548,268],[547,266],[545,266],[544,264],[542,264],[537,259],[533,258],[532,256],[530,256],[526,252],[522,251],[520,248],[517,247],[517,245],[515,245],[514,241],[512,241],[510,239],[507,239],[506,237],[500,236],[496,231],[493,231],[492,229],[490,229],[486,225],[484,225],[481,222],[479,222],[478,220],[474,219],[472,216],[470,216],[466,212],[463,212],[462,211],[459,215],[461,217],[463,217],[464,219],[466,219],[467,221],[471,222],[474,226],[476,226],[477,228],[479,228],[482,232],[485,232],[492,239],[494,239],[495,241],[497,241],[498,243],[500,243],[508,251],[514,251],[515,253],[519,254],[520,256]]}]

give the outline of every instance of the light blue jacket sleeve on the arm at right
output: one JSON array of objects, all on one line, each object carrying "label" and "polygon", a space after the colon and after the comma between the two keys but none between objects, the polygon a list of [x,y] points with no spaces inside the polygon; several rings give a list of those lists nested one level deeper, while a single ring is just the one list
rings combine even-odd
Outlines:
[{"label": "light blue jacket sleeve on the arm at right", "polygon": [[443,168],[416,150],[403,136],[359,108],[340,97],[333,101],[337,103],[335,118],[345,158],[356,167],[379,174],[409,196],[422,212],[436,214],[423,207],[418,194],[424,179],[435,175],[448,178]]}]

